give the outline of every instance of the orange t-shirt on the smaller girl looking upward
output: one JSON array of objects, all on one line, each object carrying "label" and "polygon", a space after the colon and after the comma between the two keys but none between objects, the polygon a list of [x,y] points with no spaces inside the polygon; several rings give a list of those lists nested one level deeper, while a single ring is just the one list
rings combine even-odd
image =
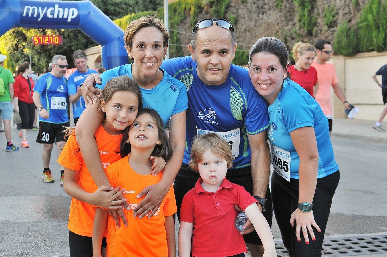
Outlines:
[{"label": "orange t-shirt on the smaller girl looking upward", "polygon": [[133,209],[142,198],[136,198],[137,194],[145,187],[158,183],[161,173],[156,177],[152,175],[140,175],[129,165],[129,156],[111,164],[106,169],[106,175],[113,187],[120,185],[125,188],[123,196],[128,200],[130,210],[124,210],[128,226],[121,221],[121,228],[117,229],[115,221],[108,218],[108,256],[168,256],[166,231],[164,227],[165,217],[176,213],[176,200],[173,187],[166,194],[159,210],[148,219],[147,216],[139,219],[133,218]]}]

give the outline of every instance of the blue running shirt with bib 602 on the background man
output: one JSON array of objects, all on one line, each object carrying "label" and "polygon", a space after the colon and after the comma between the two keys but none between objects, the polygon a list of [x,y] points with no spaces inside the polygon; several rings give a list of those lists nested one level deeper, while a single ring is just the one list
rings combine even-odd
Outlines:
[{"label": "blue running shirt with bib 602 on the background man", "polygon": [[51,75],[50,72],[43,74],[34,89],[40,94],[40,102],[48,111],[50,117],[43,119],[39,116],[39,121],[48,123],[68,122],[67,115],[67,79]]}]

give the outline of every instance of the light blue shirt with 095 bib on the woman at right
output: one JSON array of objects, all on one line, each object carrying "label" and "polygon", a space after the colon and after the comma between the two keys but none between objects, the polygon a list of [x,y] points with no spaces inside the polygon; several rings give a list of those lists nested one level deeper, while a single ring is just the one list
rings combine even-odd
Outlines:
[{"label": "light blue shirt with 095 bib on the woman at right", "polygon": [[296,82],[284,80],[281,92],[269,106],[269,124],[267,135],[272,145],[275,171],[279,170],[288,176],[290,160],[290,178],[300,179],[300,157],[289,133],[302,127],[313,127],[315,130],[319,150],[317,178],[330,175],[339,169],[330,143],[327,117],[316,100]]}]

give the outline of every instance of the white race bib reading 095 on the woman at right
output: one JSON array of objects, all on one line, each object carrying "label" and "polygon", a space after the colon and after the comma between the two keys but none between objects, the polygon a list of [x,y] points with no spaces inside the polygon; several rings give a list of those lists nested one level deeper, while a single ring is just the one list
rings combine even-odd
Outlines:
[{"label": "white race bib reading 095 on the woman at right", "polygon": [[271,164],[278,175],[290,182],[290,152],[271,144]]}]

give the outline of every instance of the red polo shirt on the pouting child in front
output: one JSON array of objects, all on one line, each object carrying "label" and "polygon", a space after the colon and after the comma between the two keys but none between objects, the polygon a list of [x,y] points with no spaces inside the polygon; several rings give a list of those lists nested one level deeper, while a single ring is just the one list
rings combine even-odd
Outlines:
[{"label": "red polo shirt on the pouting child in front", "polygon": [[202,182],[199,178],[187,192],[180,210],[180,220],[194,224],[192,256],[219,257],[246,252],[243,236],[235,228],[239,212],[234,204],[244,211],[257,200],[226,178],[215,193],[204,191]]}]

